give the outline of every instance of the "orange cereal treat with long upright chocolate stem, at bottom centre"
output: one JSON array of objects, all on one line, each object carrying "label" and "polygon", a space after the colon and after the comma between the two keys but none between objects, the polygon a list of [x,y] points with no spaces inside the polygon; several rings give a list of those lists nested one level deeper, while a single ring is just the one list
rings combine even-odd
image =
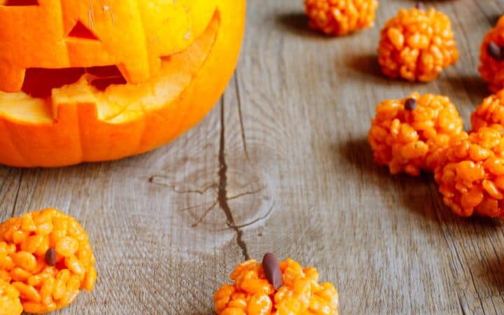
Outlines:
[{"label": "orange cereal treat with long upright chocolate stem, at bottom centre", "polygon": [[267,253],[262,264],[247,260],[230,278],[235,283],[225,284],[214,295],[219,315],[338,314],[332,283],[318,283],[315,268],[303,268],[290,258],[279,263]]}]

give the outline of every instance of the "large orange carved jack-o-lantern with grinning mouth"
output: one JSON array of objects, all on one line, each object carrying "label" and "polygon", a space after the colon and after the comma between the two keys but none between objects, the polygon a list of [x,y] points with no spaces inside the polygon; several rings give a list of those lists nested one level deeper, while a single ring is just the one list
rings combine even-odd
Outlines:
[{"label": "large orange carved jack-o-lantern with grinning mouth", "polygon": [[116,160],[199,122],[235,69],[245,0],[0,0],[0,163]]}]

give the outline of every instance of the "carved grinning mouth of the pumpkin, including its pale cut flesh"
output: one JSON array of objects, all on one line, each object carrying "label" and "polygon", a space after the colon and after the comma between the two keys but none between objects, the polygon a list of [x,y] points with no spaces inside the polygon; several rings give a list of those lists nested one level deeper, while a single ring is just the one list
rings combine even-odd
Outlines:
[{"label": "carved grinning mouth of the pumpkin, including its pale cut flesh", "polygon": [[193,43],[161,57],[160,73],[144,83],[127,83],[120,65],[27,69],[21,92],[0,91],[0,116],[23,123],[55,123],[59,106],[95,104],[99,120],[125,123],[173,102],[197,75],[216,43],[220,15]]}]

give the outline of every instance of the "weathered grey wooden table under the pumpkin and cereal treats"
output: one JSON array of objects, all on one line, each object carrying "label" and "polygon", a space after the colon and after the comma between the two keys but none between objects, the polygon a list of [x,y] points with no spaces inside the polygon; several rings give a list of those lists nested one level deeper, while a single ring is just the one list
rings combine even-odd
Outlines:
[{"label": "weathered grey wooden table under the pumpkin and cereal treats", "polygon": [[89,232],[99,280],[57,314],[211,314],[214,291],[272,251],[314,265],[342,314],[503,314],[502,221],[456,218],[432,176],[390,176],[366,136],[374,106],[446,94],[466,125],[487,94],[479,44],[504,0],[433,1],[461,59],[429,84],[379,73],[379,27],[326,38],[301,0],[250,0],[241,62],[195,129],[152,153],[64,169],[0,168],[0,218],[57,207]]}]

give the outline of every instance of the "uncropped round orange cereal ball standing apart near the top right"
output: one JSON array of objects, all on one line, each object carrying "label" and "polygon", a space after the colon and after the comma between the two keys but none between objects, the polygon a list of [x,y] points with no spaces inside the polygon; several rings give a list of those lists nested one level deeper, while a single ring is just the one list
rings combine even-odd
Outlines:
[{"label": "uncropped round orange cereal ball standing apart near the top right", "polygon": [[451,21],[423,5],[402,9],[381,30],[381,71],[391,78],[428,82],[458,60]]}]

